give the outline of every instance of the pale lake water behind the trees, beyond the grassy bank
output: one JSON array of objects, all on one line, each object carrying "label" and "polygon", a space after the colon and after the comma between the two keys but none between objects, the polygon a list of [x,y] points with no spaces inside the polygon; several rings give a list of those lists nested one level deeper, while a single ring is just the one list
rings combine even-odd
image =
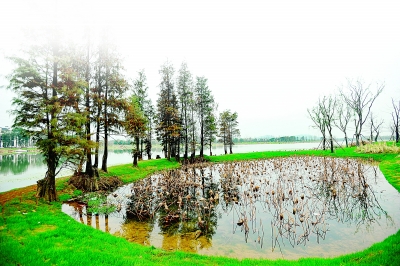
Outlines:
[{"label": "pale lake water behind the trees, beyond the grassy bank", "polygon": [[[291,143],[291,144],[255,144],[235,145],[235,153],[252,151],[273,151],[273,150],[300,150],[317,148],[318,143]],[[222,154],[222,146],[213,146],[213,154]],[[152,151],[153,158],[162,155],[160,149]],[[208,150],[205,151],[208,154]],[[100,155],[101,162],[102,155]],[[147,157],[145,156],[144,159]],[[108,166],[132,162],[132,155],[129,150],[115,150],[108,154]],[[0,192],[14,188],[25,187],[36,184],[46,173],[46,166],[43,164],[43,157],[40,154],[13,153],[0,155]],[[69,170],[62,170],[58,177],[71,174]]]}]

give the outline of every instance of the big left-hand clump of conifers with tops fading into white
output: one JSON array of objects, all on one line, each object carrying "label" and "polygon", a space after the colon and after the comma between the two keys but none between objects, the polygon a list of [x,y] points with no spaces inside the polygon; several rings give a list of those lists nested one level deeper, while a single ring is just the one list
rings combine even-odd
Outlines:
[{"label": "big left-hand clump of conifers with tops fading into white", "polygon": [[129,84],[115,50],[106,38],[97,46],[89,38],[78,46],[53,33],[10,59],[16,66],[9,75],[9,88],[17,94],[13,127],[33,138],[47,164],[37,196],[56,200],[55,177],[63,167],[72,167],[87,190],[96,190],[100,141],[101,169],[107,171],[109,136],[145,127],[136,100],[127,96]]}]

